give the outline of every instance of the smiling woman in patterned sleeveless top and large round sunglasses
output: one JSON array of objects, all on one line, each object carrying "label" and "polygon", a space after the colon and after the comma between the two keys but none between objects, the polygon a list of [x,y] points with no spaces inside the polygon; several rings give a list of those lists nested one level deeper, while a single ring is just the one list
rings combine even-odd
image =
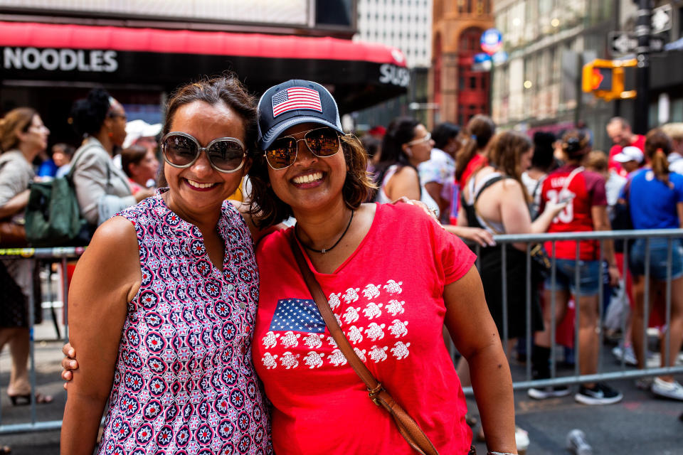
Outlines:
[{"label": "smiling woman in patterned sleeveless top and large round sunglasses", "polygon": [[102,224],[75,270],[62,454],[92,454],[107,399],[99,454],[272,453],[250,350],[258,269],[224,203],[251,161],[255,100],[228,76],[166,112],[168,188]]}]

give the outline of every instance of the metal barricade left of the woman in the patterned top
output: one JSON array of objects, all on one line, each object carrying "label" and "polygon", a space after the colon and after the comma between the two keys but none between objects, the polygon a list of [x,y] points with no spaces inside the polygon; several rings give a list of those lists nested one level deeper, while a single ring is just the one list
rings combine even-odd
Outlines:
[{"label": "metal barricade left of the woman in the patterned top", "polygon": [[[38,259],[49,262],[56,262],[58,260],[61,263],[63,274],[62,274],[62,303],[64,309],[64,316],[66,318],[67,311],[67,294],[68,294],[68,277],[67,277],[67,262],[68,259],[75,259],[80,257],[85,250],[84,247],[54,247],[54,248],[7,248],[0,249],[0,259]],[[54,300],[54,299],[52,299]],[[38,415],[36,410],[36,353],[35,353],[35,338],[34,338],[34,327],[33,321],[35,320],[34,314],[34,301],[33,294],[28,300],[28,332],[29,332],[29,380],[31,381],[31,421],[19,424],[3,424],[2,415],[0,410],[0,434],[9,433],[23,433],[23,432],[37,432],[46,431],[53,429],[60,429],[62,427],[61,420],[52,421],[38,421]],[[66,343],[68,341],[68,326],[66,326],[63,333],[63,341]],[[57,329],[58,336],[60,333]]]}]

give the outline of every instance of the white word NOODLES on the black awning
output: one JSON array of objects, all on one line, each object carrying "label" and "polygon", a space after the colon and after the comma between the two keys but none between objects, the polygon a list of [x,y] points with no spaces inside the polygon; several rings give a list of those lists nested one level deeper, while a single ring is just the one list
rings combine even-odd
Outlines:
[{"label": "white word NOODLES on the black awning", "polygon": [[4,48],[3,68],[114,73],[119,68],[119,62],[115,50]]}]

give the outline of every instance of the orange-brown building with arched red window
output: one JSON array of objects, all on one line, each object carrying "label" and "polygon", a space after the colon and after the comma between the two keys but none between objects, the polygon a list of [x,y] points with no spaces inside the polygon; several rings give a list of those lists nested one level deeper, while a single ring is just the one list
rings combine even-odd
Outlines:
[{"label": "orange-brown building with arched red window", "polygon": [[465,125],[475,114],[489,113],[490,75],[474,71],[482,33],[493,26],[492,0],[435,0],[433,6],[430,92],[431,122]]}]

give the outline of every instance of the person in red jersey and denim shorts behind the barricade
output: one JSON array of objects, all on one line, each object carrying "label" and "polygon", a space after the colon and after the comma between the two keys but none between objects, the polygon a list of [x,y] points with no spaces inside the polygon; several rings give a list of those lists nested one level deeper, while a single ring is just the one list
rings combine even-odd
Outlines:
[{"label": "person in red jersey and denim shorts behind the barricade", "polygon": [[[607,198],[605,196],[605,179],[598,173],[586,171],[581,166],[591,147],[586,134],[578,131],[567,132],[562,137],[562,147],[566,155],[566,164],[549,174],[543,183],[541,192],[541,211],[547,203],[566,201],[566,207],[554,218],[548,232],[586,232],[593,230],[610,230],[607,215]],[[616,267],[614,248],[610,241],[603,242],[602,255],[609,264],[610,284],[615,285],[619,279]],[[578,244],[576,257],[576,240],[558,240],[546,242],[546,251],[556,257],[556,283],[552,288],[551,280],[546,280],[544,308],[544,326],[542,332],[536,333],[531,363],[535,379],[550,377],[550,331],[553,324],[564,317],[571,295],[577,302],[579,312],[579,370],[582,375],[596,373],[598,370],[598,292],[600,287],[600,242],[583,240]],[[575,280],[578,267],[580,280]],[[556,299],[556,316],[550,312],[552,294]],[[542,400],[549,397],[568,395],[565,386],[529,389],[529,396]],[[609,385],[584,383],[574,395],[577,402],[584,405],[608,405],[618,402],[623,395]]]}]

